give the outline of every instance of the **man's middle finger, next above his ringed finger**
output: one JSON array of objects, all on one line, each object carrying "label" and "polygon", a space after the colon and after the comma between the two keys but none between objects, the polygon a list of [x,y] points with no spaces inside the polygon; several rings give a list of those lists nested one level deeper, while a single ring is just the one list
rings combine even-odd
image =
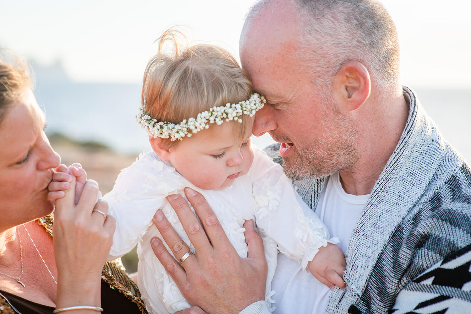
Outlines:
[{"label": "man's middle finger, next above his ringed finger", "polygon": [[[196,218],[195,213],[193,213],[193,210],[191,210],[187,201],[185,201],[185,199],[180,194],[169,195],[167,196],[167,200],[169,201],[170,205],[177,213],[177,216],[179,217],[181,225],[185,229],[185,232],[187,233],[188,238],[190,239],[191,243],[195,247],[196,254],[201,255],[201,254],[209,254],[210,252],[212,252],[211,243],[208,240],[208,237],[206,236],[206,233],[204,232],[203,227],[198,221],[198,218]],[[157,226],[157,228],[159,227]],[[160,228],[159,228],[159,231],[161,231]],[[180,239],[179,236],[178,238]],[[164,240],[167,243],[167,245],[170,246],[170,243],[167,241],[167,239],[164,239]]]}]

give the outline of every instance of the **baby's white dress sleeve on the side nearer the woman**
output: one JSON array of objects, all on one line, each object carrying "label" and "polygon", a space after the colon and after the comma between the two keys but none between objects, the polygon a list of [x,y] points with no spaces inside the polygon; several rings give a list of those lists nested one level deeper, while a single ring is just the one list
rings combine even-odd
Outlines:
[{"label": "baby's white dress sleeve on the side nearer the woman", "polygon": [[152,225],[152,217],[166,202],[165,197],[177,193],[178,185],[169,173],[172,169],[147,153],[119,174],[113,190],[104,196],[108,214],[116,219],[108,260],[130,252]]}]

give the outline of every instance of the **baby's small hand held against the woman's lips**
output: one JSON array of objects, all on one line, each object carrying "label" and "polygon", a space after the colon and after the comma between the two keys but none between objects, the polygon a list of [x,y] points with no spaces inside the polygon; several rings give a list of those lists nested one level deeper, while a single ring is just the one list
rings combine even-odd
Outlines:
[{"label": "baby's small hand held against the woman's lips", "polygon": [[52,182],[49,183],[49,201],[55,202],[65,196],[64,191],[70,188],[72,175],[77,178],[77,183],[75,184],[75,205],[77,205],[82,194],[83,187],[85,186],[85,183],[87,183],[87,173],[82,169],[81,164],[78,162],[73,163],[69,168],[64,164],[60,164],[60,166],[57,167],[56,172],[52,175]]}]

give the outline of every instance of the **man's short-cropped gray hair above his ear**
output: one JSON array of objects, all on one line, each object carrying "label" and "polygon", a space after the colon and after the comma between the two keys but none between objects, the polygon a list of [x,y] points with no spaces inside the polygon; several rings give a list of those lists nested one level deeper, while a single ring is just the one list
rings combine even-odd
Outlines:
[{"label": "man's short-cropped gray hair above his ear", "polygon": [[[298,55],[309,67],[313,83],[325,89],[342,64],[358,61],[365,65],[372,83],[382,92],[400,88],[396,26],[381,3],[374,0],[292,1],[300,20]],[[247,19],[268,8],[270,2],[259,1]]]}]

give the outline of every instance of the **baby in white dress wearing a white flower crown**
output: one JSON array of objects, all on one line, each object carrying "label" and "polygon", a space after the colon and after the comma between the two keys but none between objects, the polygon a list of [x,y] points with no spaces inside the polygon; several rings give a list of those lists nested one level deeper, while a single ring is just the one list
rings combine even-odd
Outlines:
[{"label": "baby in white dress wearing a white flower crown", "polygon": [[[170,194],[185,197],[183,190],[190,187],[208,201],[242,258],[247,257],[242,225],[255,221],[268,264],[269,307],[276,293],[270,283],[278,251],[316,278],[334,271],[331,282],[343,287],[345,259],[332,258],[343,256],[333,245],[338,240],[329,239],[325,225],[293,190],[283,169],[251,145],[253,115],[266,103],[264,97],[252,94],[248,74],[226,50],[203,44],[181,48],[175,38],[174,31],[162,35],[144,73],[136,118],[149,135],[152,151],[123,169],[105,195],[108,214],[116,218],[109,259],[138,244],[138,287],[148,311],[174,313],[190,307],[150,245],[154,236],[161,238],[152,217],[162,209],[198,254],[166,201]],[[169,42],[172,54],[162,51]],[[316,254],[324,255],[319,263],[311,262]]]}]

